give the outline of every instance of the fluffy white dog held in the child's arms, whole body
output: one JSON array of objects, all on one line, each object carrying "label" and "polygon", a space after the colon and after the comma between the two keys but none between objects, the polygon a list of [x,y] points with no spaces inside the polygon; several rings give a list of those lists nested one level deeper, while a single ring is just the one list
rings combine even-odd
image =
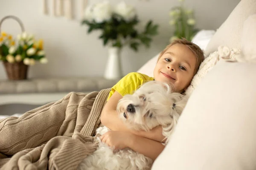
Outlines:
[{"label": "fluffy white dog held in the child's arms, whole body", "polygon": [[[150,81],[132,95],[119,100],[117,112],[125,124],[135,130],[151,130],[162,125],[166,142],[169,141],[177,120],[186,105],[186,99],[179,93],[172,93],[166,83]],[[106,133],[107,127],[96,132]],[[100,142],[99,148],[79,164],[79,170],[147,170],[153,161],[129,148],[114,150]]]}]

